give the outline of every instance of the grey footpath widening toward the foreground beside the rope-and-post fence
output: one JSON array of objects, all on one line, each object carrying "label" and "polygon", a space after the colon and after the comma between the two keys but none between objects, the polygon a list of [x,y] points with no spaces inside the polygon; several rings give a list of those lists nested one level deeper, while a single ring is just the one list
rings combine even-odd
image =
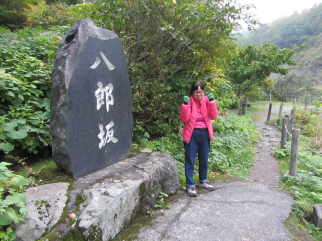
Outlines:
[{"label": "grey footpath widening toward the foreground beside the rope-and-post fence", "polygon": [[279,189],[280,174],[272,153],[280,133],[265,124],[266,113],[255,123],[262,136],[250,181],[215,181],[214,191],[197,188],[197,197],[180,190],[170,209],[141,227],[136,241],[291,240],[284,222],[293,196]]}]

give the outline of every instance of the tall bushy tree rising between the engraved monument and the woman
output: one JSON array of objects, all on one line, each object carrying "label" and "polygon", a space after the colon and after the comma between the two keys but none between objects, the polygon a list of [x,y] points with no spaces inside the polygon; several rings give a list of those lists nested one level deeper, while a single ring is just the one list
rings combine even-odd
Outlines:
[{"label": "tall bushy tree rising between the engraved monument and the woman", "polygon": [[[97,23],[125,47],[136,122],[152,135],[179,126],[178,111],[193,79],[226,64],[233,30],[247,6],[223,0],[101,0]],[[255,22],[256,23],[256,22]],[[208,79],[210,80],[210,78]],[[177,122],[177,123],[176,123]]]}]

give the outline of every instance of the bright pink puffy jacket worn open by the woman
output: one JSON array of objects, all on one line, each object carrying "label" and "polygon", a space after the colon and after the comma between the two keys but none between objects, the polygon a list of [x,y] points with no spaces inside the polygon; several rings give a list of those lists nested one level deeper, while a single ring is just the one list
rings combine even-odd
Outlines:
[{"label": "bright pink puffy jacket worn open by the woman", "polygon": [[[192,136],[192,132],[195,128],[196,119],[197,119],[197,108],[199,102],[193,97],[190,97],[188,104],[181,105],[181,113],[180,119],[183,123],[185,123],[182,129],[182,137],[185,143],[189,143],[190,138]],[[213,129],[211,119],[215,119],[218,117],[218,109],[216,101],[209,101],[208,97],[203,97],[200,101],[200,111],[202,116],[205,119],[206,126],[208,129],[210,140],[213,140]]]}]

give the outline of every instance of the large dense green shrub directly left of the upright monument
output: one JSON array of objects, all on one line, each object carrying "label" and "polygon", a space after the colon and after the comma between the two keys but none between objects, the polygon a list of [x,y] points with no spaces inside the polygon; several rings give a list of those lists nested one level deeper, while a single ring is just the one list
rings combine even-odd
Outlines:
[{"label": "large dense green shrub directly left of the upright monument", "polygon": [[51,64],[58,47],[46,32],[0,28],[0,150],[15,147],[37,153],[51,143],[49,133]]}]

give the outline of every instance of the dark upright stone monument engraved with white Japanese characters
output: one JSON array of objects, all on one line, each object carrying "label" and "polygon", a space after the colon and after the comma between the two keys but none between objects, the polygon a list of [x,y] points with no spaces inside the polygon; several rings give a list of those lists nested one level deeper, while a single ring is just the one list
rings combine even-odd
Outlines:
[{"label": "dark upright stone monument engraved with white Japanese characters", "polygon": [[51,77],[58,168],[82,177],[127,158],[132,93],[119,37],[89,18],[77,21],[61,40]]}]

